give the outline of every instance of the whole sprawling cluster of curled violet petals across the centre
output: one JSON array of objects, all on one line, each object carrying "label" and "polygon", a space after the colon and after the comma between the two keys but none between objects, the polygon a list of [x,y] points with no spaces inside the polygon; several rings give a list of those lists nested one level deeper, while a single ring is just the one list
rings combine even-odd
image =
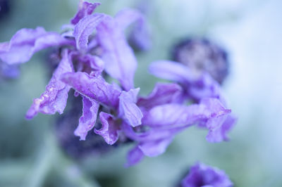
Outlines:
[{"label": "whole sprawling cluster of curled violet petals across the centre", "polygon": [[[42,27],[22,29],[11,41],[0,44],[0,60],[6,65],[25,63],[47,47],[60,48],[59,65],[26,117],[31,119],[38,112],[62,114],[69,91],[74,89],[74,95],[82,98],[75,136],[84,141],[94,129],[109,145],[129,138],[136,146],[128,153],[128,165],[145,155],[164,153],[174,136],[192,125],[208,129],[207,141],[227,140],[235,118],[226,108],[219,84],[207,72],[195,75],[185,65],[161,60],[152,63],[149,71],[171,82],[157,83],[149,96],[139,96],[140,88],[134,86],[137,60],[124,30],[133,22],[140,30],[147,28],[145,19],[133,9],[120,11],[114,18],[93,13],[97,6],[81,1],[63,34]],[[138,39],[143,41],[145,36]],[[108,76],[119,84],[107,82]],[[187,105],[189,102],[192,104]]]}]

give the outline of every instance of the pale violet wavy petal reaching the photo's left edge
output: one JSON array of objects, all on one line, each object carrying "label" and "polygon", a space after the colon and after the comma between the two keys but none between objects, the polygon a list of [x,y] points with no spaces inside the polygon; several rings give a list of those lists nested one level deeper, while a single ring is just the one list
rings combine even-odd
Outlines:
[{"label": "pale violet wavy petal reaching the photo's left edge", "polygon": [[37,51],[62,45],[73,45],[73,40],[55,32],[46,32],[42,27],[22,29],[13,35],[10,42],[0,44],[0,59],[8,64],[25,63]]}]

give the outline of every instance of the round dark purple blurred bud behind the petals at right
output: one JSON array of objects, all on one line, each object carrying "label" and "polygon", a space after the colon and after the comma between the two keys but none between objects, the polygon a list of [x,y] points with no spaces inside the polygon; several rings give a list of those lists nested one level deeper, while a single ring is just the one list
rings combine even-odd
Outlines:
[{"label": "round dark purple blurred bud behind the petals at right", "polygon": [[173,60],[187,65],[195,74],[209,72],[222,84],[228,75],[228,56],[220,46],[208,39],[185,39],[173,48]]}]

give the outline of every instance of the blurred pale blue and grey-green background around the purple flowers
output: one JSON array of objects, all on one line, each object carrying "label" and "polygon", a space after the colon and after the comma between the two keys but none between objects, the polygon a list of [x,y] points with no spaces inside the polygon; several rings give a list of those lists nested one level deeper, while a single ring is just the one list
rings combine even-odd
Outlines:
[{"label": "blurred pale blue and grey-green background around the purple flowers", "polygon": [[[59,115],[25,120],[33,98],[49,81],[45,50],[20,66],[17,79],[0,79],[0,186],[176,186],[197,161],[225,170],[235,186],[282,186],[282,1],[100,2],[98,12],[115,15],[133,7],[147,16],[152,48],[136,53],[135,85],[141,94],[157,82],[147,72],[149,63],[170,59],[182,39],[206,37],[228,51],[230,72],[223,90],[238,116],[231,140],[208,143],[207,131],[190,128],[176,136],[166,153],[130,168],[123,167],[130,143],[102,155],[71,157],[56,136]],[[76,0],[0,4],[0,42],[23,27],[61,32],[78,8]]]}]

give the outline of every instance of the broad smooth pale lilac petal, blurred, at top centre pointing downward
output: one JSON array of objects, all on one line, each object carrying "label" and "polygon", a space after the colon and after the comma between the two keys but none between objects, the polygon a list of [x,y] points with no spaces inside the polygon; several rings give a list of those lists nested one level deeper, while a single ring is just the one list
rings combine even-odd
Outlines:
[{"label": "broad smooth pale lilac petal, blurred, at top centre pointing downward", "polygon": [[106,18],[97,26],[97,39],[103,49],[106,72],[121,82],[125,91],[133,89],[137,60],[114,18]]}]

